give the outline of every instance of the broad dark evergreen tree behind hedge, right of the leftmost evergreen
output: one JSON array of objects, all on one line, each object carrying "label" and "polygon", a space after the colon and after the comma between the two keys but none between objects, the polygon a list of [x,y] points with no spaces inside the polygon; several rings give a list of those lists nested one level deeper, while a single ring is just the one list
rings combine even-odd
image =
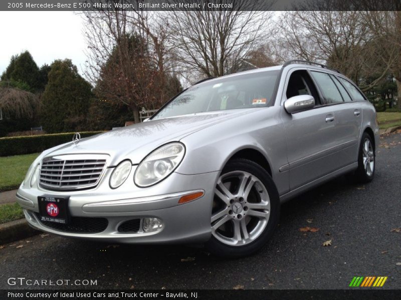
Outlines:
[{"label": "broad dark evergreen tree behind hedge, right of the leftmost evergreen", "polygon": [[48,132],[83,130],[92,96],[91,85],[70,59],[55,60],[42,95],[42,124]]}]

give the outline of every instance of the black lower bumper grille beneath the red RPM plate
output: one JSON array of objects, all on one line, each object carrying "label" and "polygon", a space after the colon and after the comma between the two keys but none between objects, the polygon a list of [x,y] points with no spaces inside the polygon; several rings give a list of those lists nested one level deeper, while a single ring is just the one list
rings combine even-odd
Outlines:
[{"label": "black lower bumper grille beneath the red RPM plate", "polygon": [[109,221],[104,217],[72,216],[68,224],[42,221],[41,215],[35,212],[39,221],[46,227],[71,233],[99,233],[106,230]]}]

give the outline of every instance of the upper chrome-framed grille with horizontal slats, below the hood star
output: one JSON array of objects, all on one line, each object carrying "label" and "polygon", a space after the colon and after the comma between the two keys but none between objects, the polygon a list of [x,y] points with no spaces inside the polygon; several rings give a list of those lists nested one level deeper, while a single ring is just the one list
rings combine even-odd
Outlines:
[{"label": "upper chrome-framed grille with horizontal slats, below the hood star", "polygon": [[39,184],[53,190],[91,188],[99,182],[105,165],[105,155],[99,157],[73,154],[46,157],[42,161]]}]

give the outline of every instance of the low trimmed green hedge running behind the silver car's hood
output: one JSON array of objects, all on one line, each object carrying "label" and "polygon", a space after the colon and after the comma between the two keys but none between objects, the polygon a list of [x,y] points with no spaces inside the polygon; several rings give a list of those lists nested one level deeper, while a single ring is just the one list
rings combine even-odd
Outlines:
[{"label": "low trimmed green hedge running behind the silver car's hood", "polygon": [[[104,131],[80,132],[81,138]],[[42,152],[59,144],[72,141],[75,132],[55,134],[0,137],[0,156],[20,155]]]}]

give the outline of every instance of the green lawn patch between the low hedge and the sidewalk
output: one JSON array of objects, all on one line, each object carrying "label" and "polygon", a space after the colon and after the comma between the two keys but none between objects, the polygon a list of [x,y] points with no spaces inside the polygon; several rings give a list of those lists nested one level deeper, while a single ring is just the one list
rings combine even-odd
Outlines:
[{"label": "green lawn patch between the low hedge and the sidewalk", "polygon": [[0,157],[0,191],[18,188],[39,153]]}]

